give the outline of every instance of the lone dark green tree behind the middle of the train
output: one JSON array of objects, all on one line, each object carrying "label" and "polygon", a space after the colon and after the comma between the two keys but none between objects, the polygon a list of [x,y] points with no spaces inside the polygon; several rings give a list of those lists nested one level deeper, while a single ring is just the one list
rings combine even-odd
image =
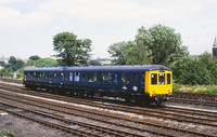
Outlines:
[{"label": "lone dark green tree behind the middle of the train", "polygon": [[55,56],[61,58],[61,65],[88,65],[91,52],[90,39],[77,39],[77,36],[72,32],[61,32],[53,37]]}]

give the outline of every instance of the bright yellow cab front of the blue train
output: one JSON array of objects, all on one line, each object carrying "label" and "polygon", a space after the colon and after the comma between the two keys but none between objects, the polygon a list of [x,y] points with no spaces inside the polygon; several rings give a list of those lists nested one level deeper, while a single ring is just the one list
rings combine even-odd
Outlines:
[{"label": "bright yellow cab front of the blue train", "polygon": [[159,106],[167,101],[173,93],[173,73],[169,70],[155,70],[145,72],[145,94]]}]

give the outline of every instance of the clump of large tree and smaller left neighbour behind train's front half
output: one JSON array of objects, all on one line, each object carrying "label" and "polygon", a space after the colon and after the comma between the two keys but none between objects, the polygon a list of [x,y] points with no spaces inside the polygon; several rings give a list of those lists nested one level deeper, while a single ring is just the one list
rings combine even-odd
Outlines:
[{"label": "clump of large tree and smaller left neighbour behind train's front half", "polygon": [[180,35],[162,25],[139,28],[136,41],[114,43],[108,53],[116,65],[159,64],[167,67],[189,56],[188,49],[181,45]]}]

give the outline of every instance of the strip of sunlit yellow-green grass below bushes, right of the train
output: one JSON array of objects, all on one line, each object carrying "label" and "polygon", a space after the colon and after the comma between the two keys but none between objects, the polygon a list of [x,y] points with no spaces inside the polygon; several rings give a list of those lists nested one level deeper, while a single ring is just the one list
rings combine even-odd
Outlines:
[{"label": "strip of sunlit yellow-green grass below bushes, right of the train", "polygon": [[182,85],[174,83],[174,92],[217,94],[217,85]]}]

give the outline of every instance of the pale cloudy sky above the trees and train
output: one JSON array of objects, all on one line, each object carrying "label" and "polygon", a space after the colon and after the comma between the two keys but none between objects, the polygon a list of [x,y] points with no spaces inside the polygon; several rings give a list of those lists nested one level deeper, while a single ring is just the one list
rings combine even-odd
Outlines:
[{"label": "pale cloudy sky above the trees and train", "polygon": [[0,57],[51,57],[63,31],[91,39],[93,58],[108,57],[111,44],[156,24],[175,28],[192,55],[210,53],[217,0],[0,0]]}]

